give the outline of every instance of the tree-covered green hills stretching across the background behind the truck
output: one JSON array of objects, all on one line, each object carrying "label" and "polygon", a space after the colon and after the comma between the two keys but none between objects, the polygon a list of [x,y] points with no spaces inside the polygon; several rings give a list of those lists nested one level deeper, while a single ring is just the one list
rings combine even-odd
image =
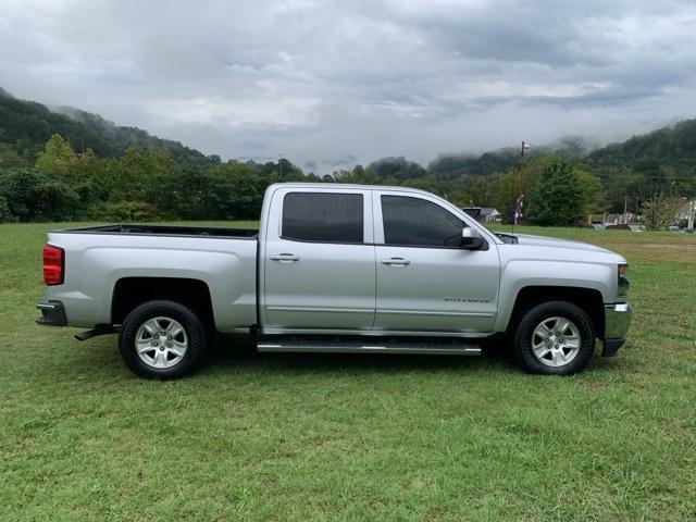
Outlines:
[{"label": "tree-covered green hills stretching across the background behind the truck", "polygon": [[304,174],[288,160],[256,163],[201,152],[77,109],[54,112],[0,89],[0,221],[256,219],[275,182],[312,181],[423,188],[458,206],[510,215],[525,195],[525,220],[572,224],[595,212],[671,224],[696,197],[696,120],[589,151],[581,138],[519,149],[443,154],[427,167],[407,158]]}]

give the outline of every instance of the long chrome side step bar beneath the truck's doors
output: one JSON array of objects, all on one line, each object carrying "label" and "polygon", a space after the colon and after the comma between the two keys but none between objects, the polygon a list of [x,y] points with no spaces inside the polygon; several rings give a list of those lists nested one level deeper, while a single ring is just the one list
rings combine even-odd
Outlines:
[{"label": "long chrome side step bar beneath the truck's doors", "polygon": [[480,356],[481,347],[465,343],[366,343],[365,340],[262,339],[261,352],[311,353],[420,353],[437,356]]}]

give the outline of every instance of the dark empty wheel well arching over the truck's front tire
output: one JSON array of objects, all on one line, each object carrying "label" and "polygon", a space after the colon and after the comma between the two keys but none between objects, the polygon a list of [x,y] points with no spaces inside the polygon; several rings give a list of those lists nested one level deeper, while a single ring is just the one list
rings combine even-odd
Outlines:
[{"label": "dark empty wheel well arching over the truck's front tire", "polygon": [[595,335],[599,338],[605,333],[604,299],[599,290],[576,288],[572,286],[526,286],[520,290],[514,301],[509,330],[522,319],[525,310],[544,301],[569,301],[580,307],[593,322]]}]

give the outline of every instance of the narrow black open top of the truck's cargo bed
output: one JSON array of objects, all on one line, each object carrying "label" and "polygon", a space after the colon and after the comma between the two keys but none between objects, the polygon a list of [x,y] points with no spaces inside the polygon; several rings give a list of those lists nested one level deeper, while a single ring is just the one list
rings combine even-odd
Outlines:
[{"label": "narrow black open top of the truck's cargo bed", "polygon": [[120,223],[112,225],[65,228],[61,234],[133,234],[140,236],[195,236],[233,237],[235,239],[257,239],[259,231],[253,228],[225,228],[219,226],[148,225]]}]

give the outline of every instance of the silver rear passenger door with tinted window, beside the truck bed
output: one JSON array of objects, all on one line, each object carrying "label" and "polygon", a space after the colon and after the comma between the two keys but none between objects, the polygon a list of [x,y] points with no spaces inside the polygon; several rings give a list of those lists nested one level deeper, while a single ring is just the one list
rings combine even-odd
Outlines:
[{"label": "silver rear passenger door with tinted window, beside the truck bed", "polygon": [[375,247],[370,190],[283,187],[262,248],[264,326],[370,330]]}]

